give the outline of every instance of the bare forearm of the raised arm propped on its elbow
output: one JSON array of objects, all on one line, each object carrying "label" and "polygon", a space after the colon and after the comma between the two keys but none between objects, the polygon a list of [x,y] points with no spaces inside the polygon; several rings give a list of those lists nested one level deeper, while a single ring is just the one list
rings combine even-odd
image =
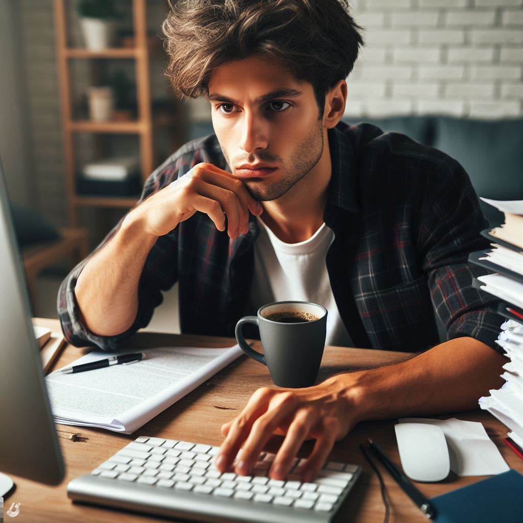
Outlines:
[{"label": "bare forearm of the raised arm propped on its elbow", "polygon": [[138,312],[138,282],[156,237],[137,220],[123,221],[118,232],[89,259],[78,277],[76,301],[89,331],[115,336],[133,324]]}]

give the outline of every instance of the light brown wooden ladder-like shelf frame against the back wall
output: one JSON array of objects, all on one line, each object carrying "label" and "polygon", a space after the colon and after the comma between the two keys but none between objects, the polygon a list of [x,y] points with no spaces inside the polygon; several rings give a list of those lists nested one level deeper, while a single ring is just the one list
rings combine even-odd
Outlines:
[{"label": "light brown wooden ladder-like shelf frame against the back wall", "polygon": [[[136,200],[129,197],[86,196],[76,193],[76,174],[78,170],[74,135],[75,133],[135,134],[139,137],[140,169],[142,180],[154,169],[153,118],[151,114],[151,88],[149,79],[149,46],[147,42],[146,0],[130,0],[134,31],[133,48],[111,48],[103,51],[90,51],[68,46],[67,12],[74,8],[69,0],[54,0],[56,53],[61,92],[61,118],[65,158],[65,185],[67,213],[71,225],[78,224],[80,207],[130,208]],[[137,87],[136,121],[95,122],[74,120],[72,117],[72,94],[70,61],[73,59],[129,59],[134,60],[135,82]]]}]

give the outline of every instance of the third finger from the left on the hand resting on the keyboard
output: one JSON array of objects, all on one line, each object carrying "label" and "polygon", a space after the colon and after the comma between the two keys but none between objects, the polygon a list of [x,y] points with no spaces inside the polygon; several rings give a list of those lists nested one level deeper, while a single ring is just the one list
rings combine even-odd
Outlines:
[{"label": "third finger from the left on the hand resting on the keyboard", "polygon": [[318,420],[318,414],[312,408],[303,408],[298,411],[287,430],[285,440],[278,450],[272,467],[270,477],[274,480],[283,480],[289,473],[292,463],[301,444],[309,435],[310,429]]}]

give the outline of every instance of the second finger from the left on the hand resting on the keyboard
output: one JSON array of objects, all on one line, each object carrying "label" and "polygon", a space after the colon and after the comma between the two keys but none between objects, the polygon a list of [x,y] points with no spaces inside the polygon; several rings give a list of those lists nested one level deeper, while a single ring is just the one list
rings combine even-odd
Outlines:
[{"label": "second finger from the left on the hand resting on the keyboard", "polygon": [[[278,400],[278,401],[276,401]],[[278,426],[297,408],[297,396],[292,392],[282,392],[269,410],[258,417],[252,425],[251,432],[242,448],[242,457],[236,465],[237,474],[248,474],[268,439]]]}]

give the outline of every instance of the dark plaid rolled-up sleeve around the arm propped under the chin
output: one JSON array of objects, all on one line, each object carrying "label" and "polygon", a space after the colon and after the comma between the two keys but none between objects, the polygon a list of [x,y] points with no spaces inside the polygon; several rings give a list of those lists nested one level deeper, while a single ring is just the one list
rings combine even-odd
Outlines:
[{"label": "dark plaid rolled-up sleeve around the arm propped under the chin", "polygon": [[[180,161],[166,162],[158,167],[145,181],[137,205],[173,181],[177,177],[180,165],[181,158]],[[95,251],[73,268],[60,286],[56,305],[62,331],[67,341],[77,347],[95,345],[108,351],[118,348],[124,339],[149,324],[154,308],[163,301],[162,291],[170,289],[177,281],[178,232],[174,230],[158,238],[147,256],[138,285],[138,313],[131,327],[126,332],[116,336],[98,336],[89,331],[82,321],[81,311],[76,301],[76,282],[89,259],[111,240],[120,228],[122,221],[123,218],[107,234]]]}]

